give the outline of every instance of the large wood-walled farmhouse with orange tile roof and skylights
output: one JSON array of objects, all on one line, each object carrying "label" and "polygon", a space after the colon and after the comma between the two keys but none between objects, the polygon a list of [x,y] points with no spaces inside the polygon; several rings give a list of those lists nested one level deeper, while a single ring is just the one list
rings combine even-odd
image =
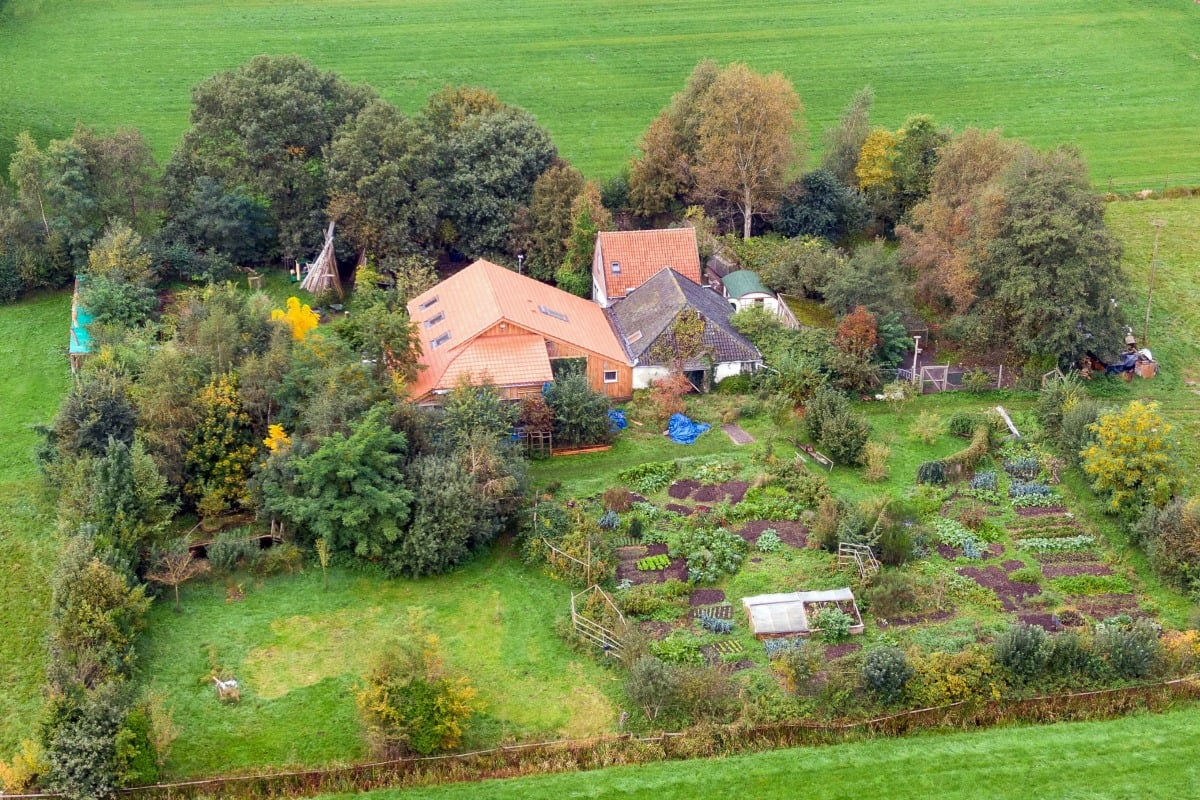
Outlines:
[{"label": "large wood-walled farmhouse with orange tile roof and skylights", "polygon": [[421,343],[412,390],[418,403],[437,403],[462,380],[518,399],[540,392],[566,361],[582,367],[596,391],[632,395],[629,356],[602,308],[491,261],[413,297],[408,313]]}]

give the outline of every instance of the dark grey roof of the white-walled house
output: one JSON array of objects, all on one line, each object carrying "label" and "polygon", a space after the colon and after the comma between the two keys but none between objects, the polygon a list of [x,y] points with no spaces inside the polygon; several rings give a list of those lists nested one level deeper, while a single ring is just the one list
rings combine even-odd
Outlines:
[{"label": "dark grey roof of the white-walled house", "polygon": [[[700,312],[704,318],[704,345],[718,363],[762,360],[758,349],[730,325],[733,308],[728,301],[674,270],[659,271],[607,311],[630,357],[636,360],[637,366],[644,367],[656,363],[649,356],[650,348],[686,308]],[[689,361],[685,368],[700,369],[703,366],[695,360]]]}]

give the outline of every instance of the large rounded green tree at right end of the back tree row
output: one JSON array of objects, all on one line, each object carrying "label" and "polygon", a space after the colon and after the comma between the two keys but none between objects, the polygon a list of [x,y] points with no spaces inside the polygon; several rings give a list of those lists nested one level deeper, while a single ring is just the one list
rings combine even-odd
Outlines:
[{"label": "large rounded green tree at right end of the back tree row", "polygon": [[1078,362],[1094,342],[1116,342],[1111,302],[1126,285],[1121,245],[1073,150],[1030,152],[1003,174],[1003,210],[980,269],[1001,333],[1030,356]]}]

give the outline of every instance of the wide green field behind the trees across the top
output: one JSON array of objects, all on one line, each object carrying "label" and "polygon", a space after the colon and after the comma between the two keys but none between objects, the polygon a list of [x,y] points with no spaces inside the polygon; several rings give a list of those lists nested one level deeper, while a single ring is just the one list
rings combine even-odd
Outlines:
[{"label": "wide green field behind the trees across the top", "polygon": [[[190,89],[299,53],[403,109],[445,84],[533,112],[590,176],[614,174],[696,61],[779,70],[820,132],[863,85],[911,113],[1078,144],[1097,185],[1200,184],[1200,7],[1189,0],[10,0],[0,162],[30,128],[137,126],[166,156]],[[816,137],[814,137],[816,138]]]}]

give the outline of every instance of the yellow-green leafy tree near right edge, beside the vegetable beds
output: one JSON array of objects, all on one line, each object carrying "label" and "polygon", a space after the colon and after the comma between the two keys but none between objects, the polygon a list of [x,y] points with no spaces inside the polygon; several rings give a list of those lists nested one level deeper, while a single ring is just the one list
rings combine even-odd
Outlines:
[{"label": "yellow-green leafy tree near right edge, beside the vegetable beds", "polygon": [[1180,469],[1172,426],[1163,421],[1158,403],[1132,401],[1090,427],[1096,443],[1081,453],[1084,473],[1109,498],[1110,511],[1136,512],[1170,500],[1180,487]]}]

